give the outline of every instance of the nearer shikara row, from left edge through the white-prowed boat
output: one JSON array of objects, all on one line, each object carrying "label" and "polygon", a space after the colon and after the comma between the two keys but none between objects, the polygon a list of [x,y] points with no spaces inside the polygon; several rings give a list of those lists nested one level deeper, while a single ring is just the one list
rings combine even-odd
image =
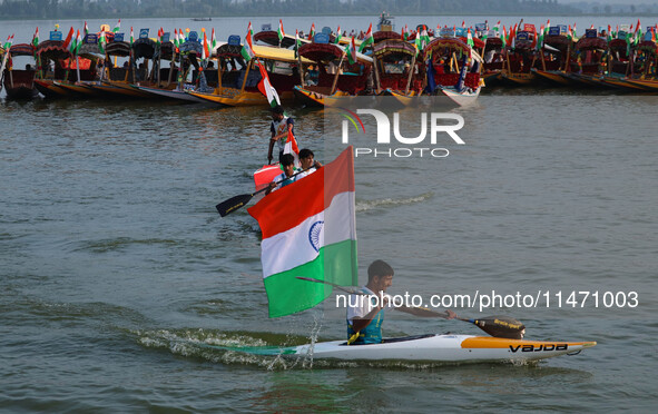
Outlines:
[{"label": "nearer shikara row, from left edge through the white-prowed boat", "polygon": [[263,30],[253,36],[254,57],[245,60],[244,45],[236,36],[203,59],[202,41],[191,33],[179,43],[148,37],[129,43],[115,40],[114,34],[102,33],[107,39],[102,49],[96,40],[99,33],[87,36],[75,55],[62,40],[11,46],[4,51],[10,61],[18,56],[35,61],[26,69],[10,62],[3,79],[7,96],[165,97],[219,106],[267,106],[258,90],[262,75],[256,62],[265,67],[282,103],[325,106],[336,98],[362,95],[392,96],[402,103],[420,95],[454,95],[459,100],[477,97],[483,86],[482,59],[465,38],[454,36],[419,48],[413,38],[402,39],[384,27],[372,33],[374,41],[367,48],[350,53],[350,47],[365,40],[327,32],[302,39]]}]

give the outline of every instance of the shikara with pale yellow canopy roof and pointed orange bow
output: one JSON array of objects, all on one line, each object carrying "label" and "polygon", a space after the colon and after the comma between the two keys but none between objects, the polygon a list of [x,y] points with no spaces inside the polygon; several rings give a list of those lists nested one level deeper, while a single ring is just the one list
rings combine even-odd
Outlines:
[{"label": "shikara with pale yellow canopy roof and pointed orange bow", "polygon": [[[232,40],[233,38],[233,40]],[[292,49],[254,45],[254,58],[245,62],[239,38],[232,37],[228,43],[217,48],[218,85],[212,92],[187,91],[205,101],[228,107],[269,106],[258,90],[261,72],[256,61],[265,65],[269,82],[278,92],[282,102],[294,99],[293,88],[299,81],[296,73],[298,59]],[[303,60],[303,62],[308,62]],[[238,68],[239,66],[239,68]]]}]

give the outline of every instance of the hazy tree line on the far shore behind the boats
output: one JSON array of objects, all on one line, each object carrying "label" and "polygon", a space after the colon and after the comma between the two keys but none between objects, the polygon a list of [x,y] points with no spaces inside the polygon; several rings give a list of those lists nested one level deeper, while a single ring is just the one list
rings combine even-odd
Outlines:
[{"label": "hazy tree line on the far shore behind the boats", "polygon": [[558,0],[3,0],[3,19],[233,16],[580,14]]}]

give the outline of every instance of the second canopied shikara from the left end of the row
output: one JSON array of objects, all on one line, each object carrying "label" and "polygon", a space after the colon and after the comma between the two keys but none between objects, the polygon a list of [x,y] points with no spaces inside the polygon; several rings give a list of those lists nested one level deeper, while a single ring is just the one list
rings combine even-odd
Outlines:
[{"label": "second canopied shikara from the left end of the row", "polygon": [[68,79],[69,69],[61,65],[70,59],[70,51],[63,46],[63,40],[43,40],[37,46],[37,75],[35,87],[46,98],[61,98],[69,96],[70,90],[56,85],[57,81]]}]

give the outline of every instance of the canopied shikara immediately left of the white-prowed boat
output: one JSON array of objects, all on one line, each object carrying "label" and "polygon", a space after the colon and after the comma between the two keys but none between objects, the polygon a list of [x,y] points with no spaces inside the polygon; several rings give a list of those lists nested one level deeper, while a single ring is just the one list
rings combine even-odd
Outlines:
[{"label": "canopied shikara immediately left of the white-prowed boat", "polygon": [[423,91],[422,61],[416,61],[418,49],[401,39],[381,40],[373,48],[375,92],[392,96],[404,106]]}]

